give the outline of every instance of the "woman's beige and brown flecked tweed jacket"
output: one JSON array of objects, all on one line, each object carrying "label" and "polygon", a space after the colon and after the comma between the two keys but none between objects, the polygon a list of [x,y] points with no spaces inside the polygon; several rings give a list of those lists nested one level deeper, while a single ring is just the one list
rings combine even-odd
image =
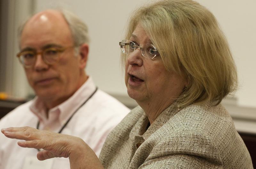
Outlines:
[{"label": "woman's beige and brown flecked tweed jacket", "polygon": [[104,168],[253,168],[221,104],[180,110],[174,102],[149,127],[148,123],[138,106],[110,132],[100,153]]}]

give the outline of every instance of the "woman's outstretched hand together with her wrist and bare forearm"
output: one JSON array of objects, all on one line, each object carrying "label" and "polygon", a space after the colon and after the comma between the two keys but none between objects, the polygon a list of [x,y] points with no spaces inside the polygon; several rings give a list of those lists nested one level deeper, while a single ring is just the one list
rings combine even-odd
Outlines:
[{"label": "woman's outstretched hand together with her wrist and bare forearm", "polygon": [[103,168],[96,154],[79,137],[31,127],[9,127],[1,131],[6,137],[25,140],[18,142],[21,147],[44,149],[37,153],[39,160],[68,157],[71,169]]}]

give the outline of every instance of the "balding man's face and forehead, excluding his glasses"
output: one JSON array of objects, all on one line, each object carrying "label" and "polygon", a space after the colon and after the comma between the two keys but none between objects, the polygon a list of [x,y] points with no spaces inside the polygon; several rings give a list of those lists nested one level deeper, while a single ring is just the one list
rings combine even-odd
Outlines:
[{"label": "balding man's face and forehead, excluding his glasses", "polygon": [[48,47],[69,47],[60,53],[60,59],[48,65],[38,54],[36,63],[25,68],[28,82],[36,95],[54,107],[67,100],[85,81],[80,56],[75,56],[74,42],[68,24],[62,15],[37,14],[25,25],[20,49],[41,52]]}]

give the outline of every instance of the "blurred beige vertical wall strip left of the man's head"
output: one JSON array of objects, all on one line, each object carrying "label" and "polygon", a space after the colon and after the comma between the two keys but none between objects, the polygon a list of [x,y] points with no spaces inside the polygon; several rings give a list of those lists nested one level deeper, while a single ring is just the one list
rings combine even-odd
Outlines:
[{"label": "blurred beige vertical wall strip left of the man's head", "polygon": [[31,90],[16,53],[19,51],[17,28],[32,13],[33,4],[33,0],[1,1],[0,92],[8,95],[26,97]]}]

